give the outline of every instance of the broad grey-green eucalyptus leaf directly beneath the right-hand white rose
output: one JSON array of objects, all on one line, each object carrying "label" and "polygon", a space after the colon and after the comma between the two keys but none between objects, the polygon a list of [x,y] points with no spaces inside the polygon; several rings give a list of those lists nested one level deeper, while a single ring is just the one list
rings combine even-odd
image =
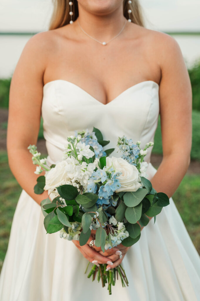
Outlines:
[{"label": "broad grey-green eucalyptus leaf directly beneath the right-hand white rose", "polygon": [[124,202],[128,207],[137,206],[148,193],[146,188],[139,188],[137,191],[128,191],[124,195]]}]

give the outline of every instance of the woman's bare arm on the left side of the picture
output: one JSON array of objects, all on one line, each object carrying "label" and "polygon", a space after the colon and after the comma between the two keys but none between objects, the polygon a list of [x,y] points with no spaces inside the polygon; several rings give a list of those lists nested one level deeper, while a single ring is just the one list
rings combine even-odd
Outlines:
[{"label": "woman's bare arm on the left side of the picture", "polygon": [[48,192],[34,193],[38,175],[34,174],[35,165],[27,147],[36,145],[40,127],[46,44],[40,33],[29,39],[22,51],[11,79],[7,131],[10,169],[20,186],[39,205]]}]

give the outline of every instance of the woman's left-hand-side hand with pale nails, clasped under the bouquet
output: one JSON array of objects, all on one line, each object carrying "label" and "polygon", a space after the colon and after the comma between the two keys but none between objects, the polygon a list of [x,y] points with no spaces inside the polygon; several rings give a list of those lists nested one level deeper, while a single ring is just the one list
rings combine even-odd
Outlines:
[{"label": "woman's left-hand-side hand with pale nails, clasped under the bouquet", "polygon": [[93,239],[92,236],[87,241],[87,244],[84,246],[80,246],[78,240],[72,240],[72,242],[75,244],[75,246],[78,248],[78,250],[83,254],[83,256],[88,259],[90,262],[94,264],[99,263],[107,263],[109,266],[112,266],[112,261],[115,261],[119,258],[119,255],[115,254],[115,252],[119,251],[119,248],[115,247],[114,250],[105,250],[103,253],[101,251],[100,247],[96,247],[95,245],[93,247],[89,246],[90,241]]}]

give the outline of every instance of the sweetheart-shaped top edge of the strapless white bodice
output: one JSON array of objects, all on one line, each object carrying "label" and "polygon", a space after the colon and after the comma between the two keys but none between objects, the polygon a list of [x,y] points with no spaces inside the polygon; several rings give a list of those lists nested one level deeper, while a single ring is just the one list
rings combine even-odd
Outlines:
[{"label": "sweetheart-shaped top edge of the strapless white bodice", "polygon": [[114,99],[112,99],[111,101],[109,101],[107,104],[103,104],[102,102],[98,101],[95,97],[93,97],[90,93],[88,93],[87,91],[85,91],[84,89],[82,89],[80,86],[74,84],[73,82],[69,82],[68,80],[65,80],[65,79],[54,79],[54,80],[51,80],[50,82],[47,82],[43,86],[43,90],[45,89],[46,86],[48,86],[48,84],[51,84],[51,83],[54,83],[54,82],[58,82],[58,81],[66,82],[66,83],[69,83],[69,84],[75,86],[76,88],[82,90],[84,93],[86,93],[87,95],[89,95],[91,98],[93,98],[95,101],[97,101],[100,105],[103,105],[103,106],[109,105],[111,102],[115,101],[118,97],[122,96],[122,94],[124,94],[125,92],[128,92],[131,88],[135,88],[138,85],[143,84],[143,83],[150,83],[150,82],[154,83],[154,84],[156,84],[156,86],[157,86],[157,88],[159,90],[159,85],[158,85],[157,82],[155,82],[153,80],[144,80],[143,82],[138,82],[137,84],[132,85],[131,87],[127,88],[126,90],[124,90],[123,92],[121,92],[118,96],[116,96]]}]

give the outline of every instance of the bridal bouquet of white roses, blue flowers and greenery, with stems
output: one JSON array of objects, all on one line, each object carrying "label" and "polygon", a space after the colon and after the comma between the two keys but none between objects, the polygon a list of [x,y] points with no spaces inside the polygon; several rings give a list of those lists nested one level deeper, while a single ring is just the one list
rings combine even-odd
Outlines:
[{"label": "bridal bouquet of white roses, blue flowers and greenery, with stems", "polygon": [[[45,176],[38,177],[34,191],[41,194],[48,190],[53,199],[41,202],[47,233],[59,231],[61,238],[79,240],[83,246],[93,229],[94,244],[103,252],[119,244],[132,246],[140,239],[148,216],[154,217],[155,223],[156,215],[169,204],[168,196],[157,193],[146,178],[148,164],[144,157],[153,143],[141,149],[140,141],[134,144],[125,136],[119,137],[121,157],[116,158],[109,157],[114,149],[103,151],[109,141],[103,140],[96,128],[93,132],[75,131],[67,141],[62,161],[51,166],[46,158],[40,159],[35,145],[28,147],[33,163],[38,165],[35,173],[45,171]],[[118,275],[122,286],[128,285],[122,265],[107,271],[106,264],[94,264],[88,277],[94,280],[96,275],[103,287],[108,283],[109,294]]]}]

